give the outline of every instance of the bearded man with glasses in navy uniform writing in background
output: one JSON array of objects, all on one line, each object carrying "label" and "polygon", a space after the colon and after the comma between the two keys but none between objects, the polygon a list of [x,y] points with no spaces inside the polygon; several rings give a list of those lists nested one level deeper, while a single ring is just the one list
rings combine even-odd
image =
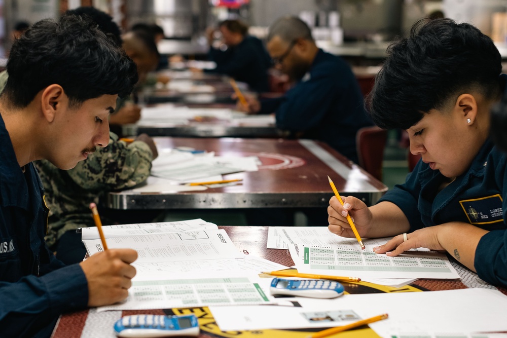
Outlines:
[{"label": "bearded man with glasses in navy uniform writing in background", "polygon": [[250,114],[275,112],[279,129],[322,140],[357,162],[356,132],[372,122],[349,65],[319,49],[310,28],[296,17],[280,18],[270,27],[267,49],[294,85],[279,98],[247,96],[248,106],[238,107]]}]

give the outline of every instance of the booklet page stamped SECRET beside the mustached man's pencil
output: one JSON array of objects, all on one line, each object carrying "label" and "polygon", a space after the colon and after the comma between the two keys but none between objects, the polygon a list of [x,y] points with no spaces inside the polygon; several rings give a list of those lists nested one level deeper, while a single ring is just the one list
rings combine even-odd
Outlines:
[{"label": "booklet page stamped SECRET beside the mustached man's pencil", "polygon": [[[100,240],[83,243],[90,255],[103,251]],[[136,250],[138,257],[134,264],[243,257],[223,229],[108,238],[107,247]]]}]

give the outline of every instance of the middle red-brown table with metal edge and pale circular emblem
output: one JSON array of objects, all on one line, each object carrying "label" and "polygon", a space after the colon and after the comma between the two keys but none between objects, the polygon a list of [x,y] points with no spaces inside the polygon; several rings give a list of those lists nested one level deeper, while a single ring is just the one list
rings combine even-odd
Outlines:
[{"label": "middle red-brown table with metal edge and pale circular emblem", "polygon": [[327,207],[337,190],[371,205],[387,186],[329,145],[314,140],[244,138],[156,137],[157,146],[189,146],[215,152],[217,156],[257,156],[259,171],[224,175],[241,178],[242,184],[197,192],[141,194],[109,193],[105,205],[112,209],[239,209]]}]

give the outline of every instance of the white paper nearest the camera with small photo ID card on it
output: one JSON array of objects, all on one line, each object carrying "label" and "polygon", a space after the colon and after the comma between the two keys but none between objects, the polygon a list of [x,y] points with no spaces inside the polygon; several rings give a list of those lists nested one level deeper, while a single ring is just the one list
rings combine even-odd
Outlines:
[{"label": "white paper nearest the camera with small photo ID card on it", "polygon": [[472,333],[507,330],[507,297],[497,290],[472,288],[344,294],[335,299],[291,299],[297,300],[302,307],[239,306],[210,307],[209,310],[224,331],[332,327],[358,320],[337,321],[328,318],[336,318],[338,311],[343,311],[343,314],[352,312],[359,319],[387,313],[388,319],[369,324],[385,338],[408,331]]}]

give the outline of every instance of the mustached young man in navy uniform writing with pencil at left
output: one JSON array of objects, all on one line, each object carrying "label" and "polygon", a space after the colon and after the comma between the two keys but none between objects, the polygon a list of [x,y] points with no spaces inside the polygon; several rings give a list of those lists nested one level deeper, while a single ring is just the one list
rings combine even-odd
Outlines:
[{"label": "mustached young man in navy uniform writing with pencil at left", "polygon": [[0,94],[0,327],[49,336],[58,316],[124,299],[137,253],[107,250],[64,266],[47,249],[48,210],[31,164],[74,168],[109,141],[107,117],[137,81],[135,65],[96,25],[42,20],[17,40]]}]

